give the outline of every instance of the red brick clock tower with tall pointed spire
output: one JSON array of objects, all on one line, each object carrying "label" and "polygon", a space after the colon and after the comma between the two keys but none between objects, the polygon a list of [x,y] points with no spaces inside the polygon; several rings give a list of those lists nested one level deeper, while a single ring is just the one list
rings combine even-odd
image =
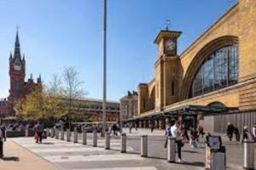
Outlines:
[{"label": "red brick clock tower with tall pointed spire", "polygon": [[9,56],[9,105],[14,108],[15,102],[23,98],[25,85],[25,56],[21,59],[19,32],[16,33],[15,52]]}]

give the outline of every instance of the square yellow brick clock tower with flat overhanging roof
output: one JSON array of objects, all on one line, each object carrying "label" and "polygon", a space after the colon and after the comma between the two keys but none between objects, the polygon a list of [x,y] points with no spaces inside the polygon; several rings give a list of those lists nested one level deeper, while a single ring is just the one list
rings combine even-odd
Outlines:
[{"label": "square yellow brick clock tower with flat overhanging roof", "polygon": [[177,56],[177,38],[181,31],[160,31],[154,43],[158,45],[158,59],[155,69],[155,108],[163,108],[178,100],[179,65]]}]

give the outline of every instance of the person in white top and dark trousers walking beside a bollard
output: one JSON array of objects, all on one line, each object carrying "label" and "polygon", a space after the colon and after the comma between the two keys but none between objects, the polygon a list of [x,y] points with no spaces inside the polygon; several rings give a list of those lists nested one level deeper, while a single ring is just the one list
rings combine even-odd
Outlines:
[{"label": "person in white top and dark trousers walking beside a bollard", "polygon": [[171,133],[172,133],[172,137],[175,137],[175,143],[176,143],[176,147],[177,147],[177,157],[178,160],[177,162],[184,162],[184,160],[182,159],[182,147],[183,147],[183,141],[181,138],[181,124],[179,121],[177,121],[172,127],[171,127]]}]

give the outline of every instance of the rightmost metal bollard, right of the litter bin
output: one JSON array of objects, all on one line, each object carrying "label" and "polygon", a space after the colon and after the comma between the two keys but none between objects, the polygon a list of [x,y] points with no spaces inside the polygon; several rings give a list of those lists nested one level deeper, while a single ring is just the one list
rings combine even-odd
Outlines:
[{"label": "rightmost metal bollard, right of the litter bin", "polygon": [[254,169],[254,141],[245,139],[244,142],[243,168]]}]

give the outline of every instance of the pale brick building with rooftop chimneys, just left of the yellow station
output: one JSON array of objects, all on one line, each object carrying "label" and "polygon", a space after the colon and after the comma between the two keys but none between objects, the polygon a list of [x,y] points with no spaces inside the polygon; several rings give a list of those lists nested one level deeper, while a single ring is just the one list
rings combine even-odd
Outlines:
[{"label": "pale brick building with rooftop chimneys, just left of the yellow station", "polygon": [[120,99],[120,119],[127,121],[137,117],[137,92],[128,91],[122,99]]}]

